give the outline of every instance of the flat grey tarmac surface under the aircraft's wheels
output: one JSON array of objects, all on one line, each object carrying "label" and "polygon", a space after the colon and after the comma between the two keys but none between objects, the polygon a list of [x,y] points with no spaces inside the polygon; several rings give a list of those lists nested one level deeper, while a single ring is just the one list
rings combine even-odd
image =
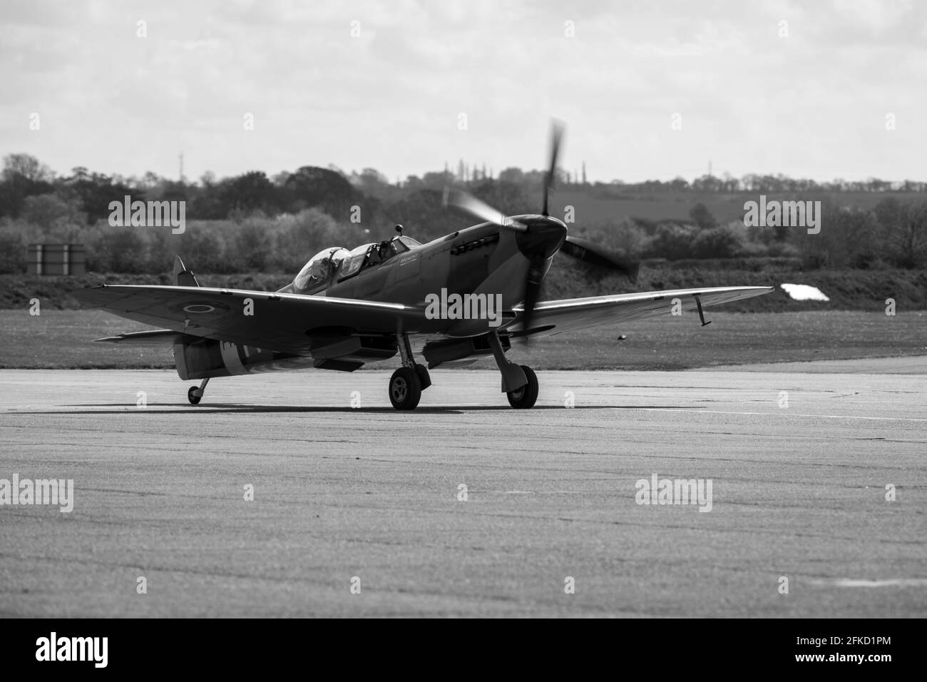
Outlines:
[{"label": "flat grey tarmac surface under the aircraft's wheels", "polygon": [[2,370],[0,479],[73,510],[0,506],[0,616],[924,617],[927,361],[861,362],[540,372],[524,411],[438,369],[412,413],[384,371]]}]

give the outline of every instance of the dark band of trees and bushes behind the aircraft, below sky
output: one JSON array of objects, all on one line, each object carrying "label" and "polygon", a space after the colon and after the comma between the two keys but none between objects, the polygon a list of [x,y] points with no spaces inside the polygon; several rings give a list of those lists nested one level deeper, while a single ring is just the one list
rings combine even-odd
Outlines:
[{"label": "dark band of trees and bushes behind the aircraft, below sky", "polygon": [[[635,258],[791,257],[806,267],[903,267],[927,265],[927,202],[923,183],[815,183],[782,175],[741,179],[705,175],[689,183],[586,183],[585,172],[558,171],[565,188],[583,187],[596,199],[633,194],[692,193],[688,221],[599,218],[578,221],[571,230]],[[295,272],[311,254],[331,246],[392,236],[396,224],[410,225],[422,241],[466,224],[443,206],[445,187],[464,187],[508,214],[536,212],[541,171],[460,162],[448,168],[390,183],[375,169],[346,174],[334,166],[303,166],[268,177],[252,171],[226,178],[204,174],[198,182],[156,174],[140,178],[92,173],[86,168],[56,175],[34,157],[6,157],[0,177],[0,272],[24,272],[26,245],[83,243],[95,272],[159,273],[181,253],[201,272],[250,270]],[[885,193],[872,208],[844,206],[845,192]],[[699,199],[712,194],[787,193],[791,199],[823,199],[825,228],[818,235],[785,227],[719,223]],[[909,194],[910,196],[905,196]],[[133,199],[184,200],[187,228],[171,235],[159,228],[108,225],[109,203]],[[707,199],[705,199],[707,200]],[[875,199],[873,199],[875,201]]]}]

